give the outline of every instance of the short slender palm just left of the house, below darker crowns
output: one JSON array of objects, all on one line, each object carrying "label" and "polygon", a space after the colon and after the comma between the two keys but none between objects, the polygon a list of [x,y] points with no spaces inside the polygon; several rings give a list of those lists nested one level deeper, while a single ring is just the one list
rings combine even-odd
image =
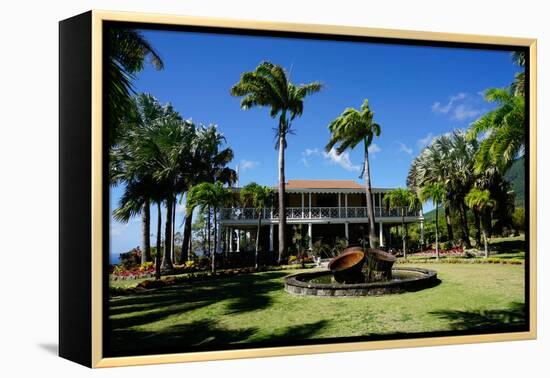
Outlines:
[{"label": "short slender palm just left of the house, below darker crowns", "polygon": [[[220,182],[215,184],[209,182],[200,183],[192,187],[187,193],[186,213],[191,214],[195,207],[200,206],[202,210],[208,209],[210,222],[211,212],[214,218],[214,251],[209,251],[212,258],[212,272],[216,270],[216,250],[218,248],[218,212],[231,201],[232,193],[224,188]],[[210,233],[210,230],[208,230]]]}]

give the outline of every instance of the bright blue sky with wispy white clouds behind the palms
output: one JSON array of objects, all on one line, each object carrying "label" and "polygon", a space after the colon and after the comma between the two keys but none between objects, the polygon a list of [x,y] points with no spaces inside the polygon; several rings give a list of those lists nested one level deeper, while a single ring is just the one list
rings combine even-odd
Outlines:
[{"label": "bright blue sky with wispy white clouds behind the palms", "polygon": [[[412,159],[437,135],[466,128],[491,109],[482,92],[509,85],[519,70],[510,52],[389,44],[144,31],[165,69],[146,67],[135,82],[184,118],[217,124],[235,152],[240,184],[277,182],[277,151],[267,109],[243,111],[229,95],[241,73],[269,60],[282,65],[296,84],[320,81],[324,88],[307,98],[304,114],[288,137],[287,179],[359,180],[361,148],[327,154],[327,125],[346,107],[365,98],[382,134],[371,147],[374,187],[402,187]],[[121,187],[111,190],[116,207]],[[430,208],[429,206],[426,209]],[[178,210],[177,226],[182,209]],[[152,212],[152,231],[156,212]],[[140,244],[140,220],[111,220],[111,255]]]}]

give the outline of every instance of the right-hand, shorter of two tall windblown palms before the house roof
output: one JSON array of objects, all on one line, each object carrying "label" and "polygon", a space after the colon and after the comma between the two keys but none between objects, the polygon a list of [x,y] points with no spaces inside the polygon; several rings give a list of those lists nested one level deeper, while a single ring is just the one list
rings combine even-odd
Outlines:
[{"label": "right-hand, shorter of two tall windblown palms before the house roof", "polygon": [[365,178],[365,193],[367,196],[367,213],[369,218],[369,245],[377,247],[377,237],[374,228],[374,208],[371,195],[371,181],[369,169],[369,146],[373,138],[380,135],[380,125],[373,121],[374,112],[369,108],[369,101],[365,99],[361,109],[347,108],[344,112],[330,123],[328,129],[331,137],[325,147],[327,152],[336,145],[336,154],[340,155],[348,148],[353,149],[363,142],[364,163],[363,177]]}]

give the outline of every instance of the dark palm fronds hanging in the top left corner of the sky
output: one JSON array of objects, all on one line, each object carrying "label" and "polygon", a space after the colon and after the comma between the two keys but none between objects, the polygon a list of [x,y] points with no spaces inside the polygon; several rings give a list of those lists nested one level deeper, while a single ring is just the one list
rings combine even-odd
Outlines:
[{"label": "dark palm fronds hanging in the top left corner of the sky", "polygon": [[109,28],[107,46],[109,142],[113,146],[125,134],[122,120],[132,111],[134,75],[143,70],[146,61],[157,70],[161,70],[164,63],[151,44],[134,29]]}]

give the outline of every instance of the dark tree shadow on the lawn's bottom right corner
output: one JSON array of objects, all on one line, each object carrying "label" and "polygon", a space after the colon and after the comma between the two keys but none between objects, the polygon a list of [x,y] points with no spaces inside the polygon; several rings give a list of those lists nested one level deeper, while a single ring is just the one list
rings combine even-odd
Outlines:
[{"label": "dark tree shadow on the lawn's bottom right corner", "polygon": [[432,311],[430,314],[448,320],[452,330],[497,331],[509,327],[524,326],[526,306],[512,302],[506,309],[474,311]]}]

